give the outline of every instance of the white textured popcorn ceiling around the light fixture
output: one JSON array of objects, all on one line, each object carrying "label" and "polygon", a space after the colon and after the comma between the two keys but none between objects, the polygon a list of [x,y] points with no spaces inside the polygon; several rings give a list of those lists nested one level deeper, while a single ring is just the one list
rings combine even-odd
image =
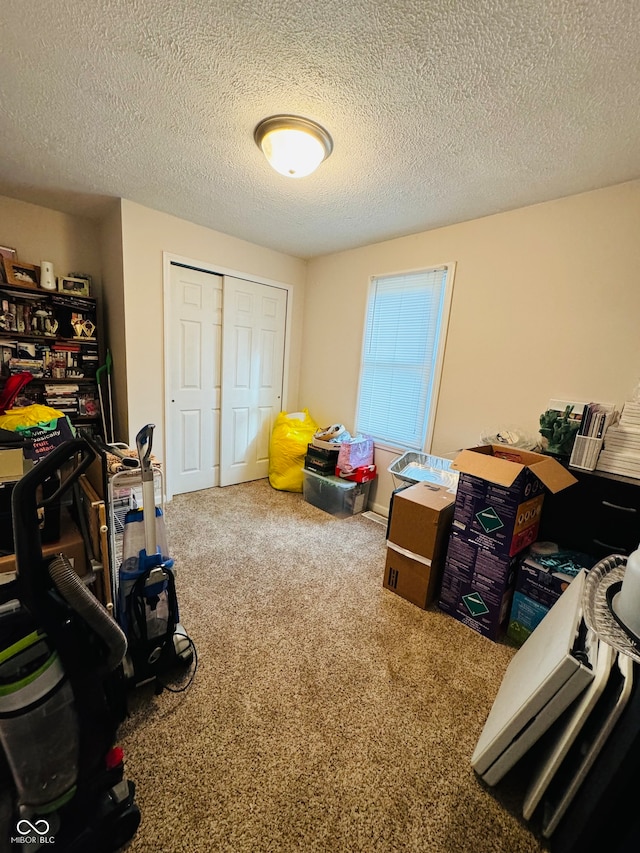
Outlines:
[{"label": "white textured popcorn ceiling around the light fixture", "polygon": [[[639,32],[638,0],[3,0],[0,193],[312,257],[619,183]],[[333,136],[308,178],[253,141],[280,112]]]}]

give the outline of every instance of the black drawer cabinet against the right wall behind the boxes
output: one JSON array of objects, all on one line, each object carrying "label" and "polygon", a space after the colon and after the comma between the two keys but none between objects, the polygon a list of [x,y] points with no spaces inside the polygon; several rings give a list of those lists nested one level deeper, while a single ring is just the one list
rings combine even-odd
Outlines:
[{"label": "black drawer cabinet against the right wall behind the boxes", "polygon": [[569,469],[578,482],[545,496],[539,538],[601,558],[640,544],[640,480]]}]

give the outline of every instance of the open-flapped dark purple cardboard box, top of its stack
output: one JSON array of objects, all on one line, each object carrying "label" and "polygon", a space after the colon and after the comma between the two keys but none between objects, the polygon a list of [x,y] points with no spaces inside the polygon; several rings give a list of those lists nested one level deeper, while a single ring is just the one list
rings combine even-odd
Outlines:
[{"label": "open-flapped dark purple cardboard box, top of its stack", "polygon": [[512,557],[538,537],[544,490],[566,489],[576,478],[550,456],[504,445],[463,450],[453,527],[481,548]]}]

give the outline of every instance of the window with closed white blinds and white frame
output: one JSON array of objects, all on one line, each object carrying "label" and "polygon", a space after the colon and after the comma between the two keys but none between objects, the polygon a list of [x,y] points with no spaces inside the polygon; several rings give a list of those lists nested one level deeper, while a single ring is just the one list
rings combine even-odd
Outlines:
[{"label": "window with closed white blinds and white frame", "polygon": [[372,279],[357,429],[379,443],[429,450],[453,265]]}]

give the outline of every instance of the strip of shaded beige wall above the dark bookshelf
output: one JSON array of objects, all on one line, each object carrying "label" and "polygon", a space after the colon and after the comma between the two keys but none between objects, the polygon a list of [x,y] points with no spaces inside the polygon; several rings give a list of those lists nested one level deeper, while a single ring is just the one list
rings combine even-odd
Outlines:
[{"label": "strip of shaded beige wall above the dark bookshelf", "polygon": [[0,196],[0,241],[17,249],[18,258],[40,265],[51,261],[56,275],[84,272],[92,276],[100,296],[98,224],[58,210]]}]

